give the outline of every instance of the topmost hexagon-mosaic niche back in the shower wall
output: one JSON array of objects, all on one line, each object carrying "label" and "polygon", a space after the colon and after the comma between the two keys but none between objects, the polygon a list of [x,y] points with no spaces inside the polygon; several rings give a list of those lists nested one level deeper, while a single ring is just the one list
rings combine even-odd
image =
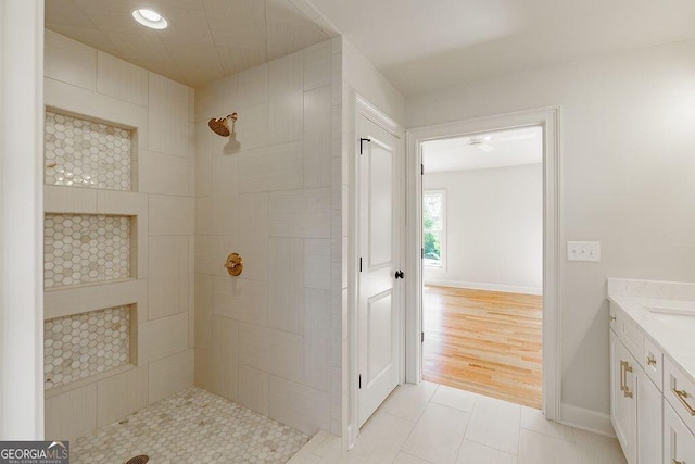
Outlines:
[{"label": "topmost hexagon-mosaic niche back in the shower wall", "polygon": [[130,190],[129,130],[50,111],[45,130],[47,185]]}]

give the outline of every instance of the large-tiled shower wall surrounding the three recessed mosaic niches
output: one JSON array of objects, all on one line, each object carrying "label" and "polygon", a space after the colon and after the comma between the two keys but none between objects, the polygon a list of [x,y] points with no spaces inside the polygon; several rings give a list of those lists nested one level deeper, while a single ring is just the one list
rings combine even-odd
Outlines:
[{"label": "large-tiled shower wall surrounding the three recessed mosaic niches", "polygon": [[43,187],[46,212],[137,216],[132,279],[43,296],[46,318],[137,304],[135,365],[47,391],[47,439],[73,439],[193,384],[194,93],[51,30],[45,62],[47,106],[135,129],[135,191]]}]

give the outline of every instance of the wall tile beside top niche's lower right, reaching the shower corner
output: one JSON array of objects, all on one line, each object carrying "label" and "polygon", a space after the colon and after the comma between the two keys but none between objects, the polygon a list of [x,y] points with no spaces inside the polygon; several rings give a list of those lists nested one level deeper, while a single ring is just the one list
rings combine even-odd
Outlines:
[{"label": "wall tile beside top niche's lower right, reaching the shower corner", "polygon": [[140,152],[138,190],[146,193],[188,196],[189,161],[179,156]]}]

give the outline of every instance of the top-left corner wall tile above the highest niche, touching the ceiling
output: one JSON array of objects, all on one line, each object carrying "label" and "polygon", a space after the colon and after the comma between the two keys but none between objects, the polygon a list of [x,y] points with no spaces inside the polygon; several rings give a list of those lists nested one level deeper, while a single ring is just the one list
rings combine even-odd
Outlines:
[{"label": "top-left corner wall tile above the highest niche, touching the ceiling", "polygon": [[45,30],[43,74],[87,90],[97,88],[97,50]]}]

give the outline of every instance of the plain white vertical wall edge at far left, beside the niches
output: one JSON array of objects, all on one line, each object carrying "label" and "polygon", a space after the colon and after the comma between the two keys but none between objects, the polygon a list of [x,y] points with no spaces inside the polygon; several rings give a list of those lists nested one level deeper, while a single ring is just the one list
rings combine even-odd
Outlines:
[{"label": "plain white vertical wall edge at far left, beside the niches", "polygon": [[43,439],[43,1],[0,2],[0,440]]}]

